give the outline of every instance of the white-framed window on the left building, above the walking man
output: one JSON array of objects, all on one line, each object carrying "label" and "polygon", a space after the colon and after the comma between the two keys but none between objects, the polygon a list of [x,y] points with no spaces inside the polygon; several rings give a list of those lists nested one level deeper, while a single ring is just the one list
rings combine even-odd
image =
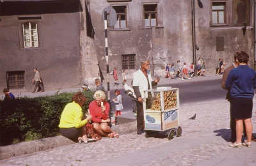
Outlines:
[{"label": "white-framed window on the left building, above the walking man", "polygon": [[37,24],[26,22],[22,24],[24,47],[38,47],[38,29]]}]

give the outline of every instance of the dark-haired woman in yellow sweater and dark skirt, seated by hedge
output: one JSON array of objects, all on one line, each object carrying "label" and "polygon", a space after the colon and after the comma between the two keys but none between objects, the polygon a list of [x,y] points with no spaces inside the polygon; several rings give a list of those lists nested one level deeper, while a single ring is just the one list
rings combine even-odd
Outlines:
[{"label": "dark-haired woman in yellow sweater and dark skirt, seated by hedge", "polygon": [[78,141],[81,143],[88,142],[86,136],[85,124],[92,119],[89,115],[86,119],[83,119],[83,112],[81,106],[86,102],[86,98],[83,93],[77,92],[72,97],[72,103],[68,103],[63,110],[60,117],[60,133],[68,139]]}]

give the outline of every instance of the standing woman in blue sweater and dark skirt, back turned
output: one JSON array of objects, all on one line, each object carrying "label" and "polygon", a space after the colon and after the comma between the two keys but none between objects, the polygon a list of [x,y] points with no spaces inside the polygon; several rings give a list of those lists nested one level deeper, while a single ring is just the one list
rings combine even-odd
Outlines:
[{"label": "standing woman in blue sweater and dark skirt, back turned", "polygon": [[252,98],[253,88],[256,89],[256,72],[247,66],[249,56],[246,52],[238,51],[236,54],[239,66],[230,70],[225,82],[225,86],[230,88],[230,115],[236,119],[236,142],[230,146],[241,148],[244,121],[247,140],[243,146],[251,147]]}]

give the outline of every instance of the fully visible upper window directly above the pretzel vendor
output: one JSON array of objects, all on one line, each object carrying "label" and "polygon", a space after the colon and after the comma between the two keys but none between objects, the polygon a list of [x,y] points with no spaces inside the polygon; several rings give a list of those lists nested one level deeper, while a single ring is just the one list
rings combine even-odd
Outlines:
[{"label": "fully visible upper window directly above the pretzel vendor", "polygon": [[143,17],[145,27],[156,27],[157,4],[143,4]]}]

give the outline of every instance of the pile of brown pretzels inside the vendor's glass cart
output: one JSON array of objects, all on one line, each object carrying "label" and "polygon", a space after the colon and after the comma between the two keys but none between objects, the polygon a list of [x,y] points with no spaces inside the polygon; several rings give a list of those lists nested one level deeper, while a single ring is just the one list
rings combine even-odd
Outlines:
[{"label": "pile of brown pretzels inside the vendor's glass cart", "polygon": [[[161,110],[161,94],[156,95],[157,100],[154,100],[150,110]],[[173,91],[164,92],[164,110],[177,107],[177,93]]]}]

